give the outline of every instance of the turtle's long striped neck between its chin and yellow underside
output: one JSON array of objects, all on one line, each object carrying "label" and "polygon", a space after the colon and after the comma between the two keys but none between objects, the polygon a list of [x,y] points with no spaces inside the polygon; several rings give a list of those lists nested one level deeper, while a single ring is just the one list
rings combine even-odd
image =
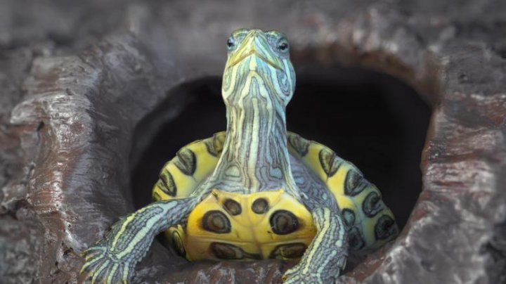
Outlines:
[{"label": "turtle's long striped neck between its chin and yellow underside", "polygon": [[211,177],[227,191],[294,188],[287,150],[285,105],[256,71],[225,100],[227,132]]}]

